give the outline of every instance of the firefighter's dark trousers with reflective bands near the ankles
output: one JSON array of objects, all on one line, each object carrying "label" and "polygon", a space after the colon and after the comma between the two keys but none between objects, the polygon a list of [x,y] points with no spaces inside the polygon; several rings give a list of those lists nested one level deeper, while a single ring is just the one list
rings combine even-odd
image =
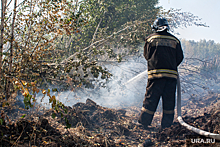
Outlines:
[{"label": "firefighter's dark trousers with reflective bands near the ankles", "polygon": [[139,122],[148,126],[151,124],[157,109],[160,97],[162,97],[163,117],[161,127],[170,127],[174,119],[176,79],[160,78],[148,80],[145,99],[141,109]]}]

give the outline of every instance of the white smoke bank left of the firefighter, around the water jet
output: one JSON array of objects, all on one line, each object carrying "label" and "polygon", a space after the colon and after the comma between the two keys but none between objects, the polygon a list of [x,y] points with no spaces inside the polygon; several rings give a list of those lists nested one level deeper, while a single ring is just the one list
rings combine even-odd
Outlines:
[{"label": "white smoke bank left of the firefighter, around the water jet", "polygon": [[[85,102],[87,98],[94,100],[98,105],[104,107],[127,107],[132,105],[141,106],[147,85],[147,62],[143,57],[133,57],[121,63],[109,62],[103,65],[113,76],[106,81],[105,87],[102,83],[94,82],[94,89],[79,88],[75,91],[51,92],[66,106],[73,106],[78,102]],[[101,78],[98,78],[100,80]],[[102,81],[103,82],[103,81]],[[42,93],[37,94],[37,103],[50,108],[49,97]]]}]

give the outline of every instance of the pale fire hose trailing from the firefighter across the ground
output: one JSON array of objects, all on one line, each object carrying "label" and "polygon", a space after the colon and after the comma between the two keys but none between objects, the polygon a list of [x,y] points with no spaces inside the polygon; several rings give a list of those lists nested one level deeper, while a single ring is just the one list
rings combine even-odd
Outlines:
[{"label": "pale fire hose trailing from the firefighter across the ground", "polygon": [[215,133],[210,133],[210,132],[200,130],[198,128],[188,125],[187,123],[183,121],[182,116],[181,116],[181,86],[180,86],[179,75],[177,77],[177,120],[182,126],[186,127],[190,131],[193,131],[199,135],[203,135],[206,137],[214,138],[216,140],[220,140],[220,134],[215,134]]}]

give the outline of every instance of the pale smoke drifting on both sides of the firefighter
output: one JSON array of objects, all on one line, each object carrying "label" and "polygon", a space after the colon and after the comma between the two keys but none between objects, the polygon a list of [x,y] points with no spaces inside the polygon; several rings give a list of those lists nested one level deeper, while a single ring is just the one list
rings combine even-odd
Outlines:
[{"label": "pale smoke drifting on both sides of the firefighter", "polygon": [[[132,57],[121,63],[109,62],[103,64],[112,74],[113,77],[106,81],[105,87],[101,82],[94,82],[94,89],[79,88],[75,91],[51,92],[51,96],[56,98],[66,106],[73,106],[78,102],[86,102],[87,98],[94,100],[98,105],[116,108],[116,107],[141,107],[146,92],[147,85],[147,61],[144,57]],[[187,101],[192,97],[201,97],[209,91],[219,92],[220,84],[213,80],[201,78],[196,72],[188,72],[189,64],[185,60],[179,67],[182,100]],[[192,70],[192,68],[191,68]],[[101,78],[98,78],[101,80]],[[102,81],[103,82],[103,81]],[[49,89],[57,88],[50,86]],[[39,93],[37,103],[51,108],[49,97]],[[161,102],[159,103],[159,109]]]}]

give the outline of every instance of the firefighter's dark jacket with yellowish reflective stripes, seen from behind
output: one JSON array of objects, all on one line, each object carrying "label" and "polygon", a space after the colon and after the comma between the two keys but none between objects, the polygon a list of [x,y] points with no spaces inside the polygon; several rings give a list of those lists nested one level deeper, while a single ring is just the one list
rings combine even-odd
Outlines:
[{"label": "firefighter's dark jacket with yellowish reflective stripes, seen from behind", "polygon": [[177,66],[183,60],[180,41],[167,31],[146,38],[144,57],[148,62],[148,79],[177,78]]}]

